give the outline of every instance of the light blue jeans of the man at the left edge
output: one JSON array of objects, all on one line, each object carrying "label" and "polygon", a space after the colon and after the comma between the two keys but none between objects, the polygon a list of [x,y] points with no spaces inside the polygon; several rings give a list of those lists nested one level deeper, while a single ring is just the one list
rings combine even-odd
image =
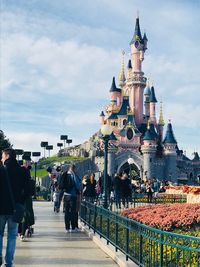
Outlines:
[{"label": "light blue jeans of the man at the left edge", "polygon": [[8,227],[8,233],[5,264],[8,267],[12,267],[16,247],[18,223],[12,221],[12,215],[0,215],[0,257],[2,257],[3,236],[6,223]]}]

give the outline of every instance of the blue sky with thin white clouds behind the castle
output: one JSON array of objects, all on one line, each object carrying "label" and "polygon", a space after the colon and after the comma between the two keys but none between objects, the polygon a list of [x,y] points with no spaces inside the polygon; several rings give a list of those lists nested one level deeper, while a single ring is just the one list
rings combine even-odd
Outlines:
[{"label": "blue sky with thin white clouds behind the castle", "polygon": [[0,129],[14,148],[48,141],[56,153],[60,135],[79,144],[100,129],[138,11],[165,122],[188,157],[200,153],[200,0],[1,0]]}]

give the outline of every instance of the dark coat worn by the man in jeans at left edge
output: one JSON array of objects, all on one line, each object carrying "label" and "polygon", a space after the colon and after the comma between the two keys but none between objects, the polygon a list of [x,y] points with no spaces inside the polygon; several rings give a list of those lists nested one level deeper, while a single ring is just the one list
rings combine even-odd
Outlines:
[{"label": "dark coat worn by the man in jeans at left edge", "polygon": [[7,159],[0,167],[0,214],[11,215],[13,204],[9,192],[8,180],[15,203],[24,203],[29,195],[28,177],[16,159]]}]

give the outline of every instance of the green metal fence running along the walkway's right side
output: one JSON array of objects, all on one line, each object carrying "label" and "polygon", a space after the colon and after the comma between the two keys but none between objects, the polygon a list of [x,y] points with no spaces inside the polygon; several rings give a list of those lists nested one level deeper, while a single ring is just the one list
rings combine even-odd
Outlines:
[{"label": "green metal fence running along the walkway's right side", "polygon": [[82,201],[81,220],[143,267],[199,267],[200,238],[171,233]]}]

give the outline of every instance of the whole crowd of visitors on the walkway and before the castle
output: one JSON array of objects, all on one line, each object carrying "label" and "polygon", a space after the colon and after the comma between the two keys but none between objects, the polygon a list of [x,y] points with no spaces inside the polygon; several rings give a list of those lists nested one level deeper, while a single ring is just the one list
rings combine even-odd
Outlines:
[{"label": "whole crowd of visitors on the walkway and before the castle", "polygon": [[[30,164],[25,161],[24,165],[20,166],[14,149],[3,150],[1,162],[0,266],[3,264],[3,236],[7,224],[8,238],[4,262],[5,266],[12,267],[17,234],[24,241],[25,236],[31,236],[33,233],[35,221],[32,198],[36,195],[36,187],[35,181],[30,176]],[[160,183],[155,178],[133,182],[126,172],[115,174],[112,178],[107,175],[106,181],[103,173],[98,179],[94,173],[80,178],[74,164],[71,164],[66,171],[62,171],[60,166],[56,168],[56,172],[51,167],[47,171],[50,177],[49,190],[53,211],[58,213],[62,208],[67,233],[79,231],[78,214],[82,199],[97,203],[106,191],[109,203],[115,203],[118,209],[127,208],[135,194],[146,194],[148,201],[152,202],[153,195],[164,192],[167,184],[166,181]],[[23,216],[19,221],[13,219],[17,205],[23,206]]]}]

